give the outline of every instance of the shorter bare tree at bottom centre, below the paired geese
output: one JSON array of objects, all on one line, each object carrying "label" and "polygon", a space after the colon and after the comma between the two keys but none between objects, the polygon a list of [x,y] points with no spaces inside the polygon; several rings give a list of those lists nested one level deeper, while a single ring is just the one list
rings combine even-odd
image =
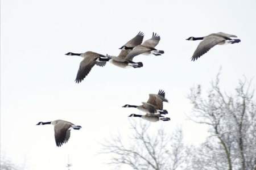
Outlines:
[{"label": "shorter bare tree at bottom centre, below the paired geese", "polygon": [[184,169],[187,159],[187,148],[183,144],[181,129],[172,135],[159,129],[156,134],[149,132],[150,124],[131,122],[133,131],[130,143],[125,144],[120,135],[103,145],[103,153],[112,154],[110,164],[126,164],[133,169]]}]

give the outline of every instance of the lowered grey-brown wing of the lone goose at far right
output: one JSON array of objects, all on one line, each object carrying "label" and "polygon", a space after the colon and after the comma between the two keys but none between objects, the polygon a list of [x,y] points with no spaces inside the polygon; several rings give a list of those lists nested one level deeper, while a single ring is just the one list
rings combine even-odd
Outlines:
[{"label": "lowered grey-brown wing of the lone goose at far right", "polygon": [[203,54],[207,53],[213,46],[218,43],[225,41],[223,37],[220,36],[206,36],[204,40],[199,43],[197,46],[191,60],[195,61],[199,57],[203,56]]}]

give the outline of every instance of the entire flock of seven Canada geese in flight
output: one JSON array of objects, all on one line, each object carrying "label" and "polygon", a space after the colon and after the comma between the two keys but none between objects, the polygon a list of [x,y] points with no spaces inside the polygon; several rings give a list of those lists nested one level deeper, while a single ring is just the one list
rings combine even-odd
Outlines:
[{"label": "entire flock of seven Canada geese in flight", "polygon": [[[224,45],[224,44],[235,44],[240,42],[240,39],[232,39],[232,37],[237,37],[236,35],[230,35],[224,32],[211,33],[208,36],[204,37],[189,37],[186,40],[196,41],[203,40],[197,46],[193,56],[191,58],[192,61],[203,56],[203,54],[207,53],[213,46],[215,45]],[[92,70],[94,65],[104,67],[106,62],[110,62],[115,66],[122,68],[139,68],[143,67],[142,62],[134,62],[133,58],[140,54],[152,54],[154,56],[160,56],[164,54],[163,50],[156,49],[156,45],[158,45],[160,41],[160,36],[156,33],[152,33],[151,39],[143,41],[144,33],[139,32],[133,39],[126,42],[125,45],[121,46],[121,52],[118,56],[109,56],[108,54],[102,55],[95,52],[85,52],[85,53],[72,53],[69,52],[65,55],[67,56],[80,56],[84,58],[80,62],[79,70],[76,75],[76,83],[82,82],[85,76],[87,76]],[[170,121],[169,117],[164,117],[163,115],[168,114],[168,111],[163,109],[163,102],[168,102],[165,97],[165,92],[163,90],[159,90],[158,94],[150,94],[147,102],[142,102],[142,105],[129,105],[126,104],[124,108],[137,108],[139,111],[142,111],[146,114],[130,114],[129,117],[141,117],[144,120],[157,122],[157,121]],[[55,120],[51,122],[38,122],[36,125],[47,125],[51,124],[54,126],[55,132],[55,142],[57,147],[62,146],[64,143],[67,143],[70,138],[71,129],[79,130],[82,127],[79,125],[74,125],[71,122],[64,120]]]}]

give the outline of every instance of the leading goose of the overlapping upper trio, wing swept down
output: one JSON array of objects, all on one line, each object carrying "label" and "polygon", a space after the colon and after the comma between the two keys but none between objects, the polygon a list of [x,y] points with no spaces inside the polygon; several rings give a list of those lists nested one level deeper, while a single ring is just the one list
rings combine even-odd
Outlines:
[{"label": "leading goose of the overlapping upper trio, wing swept down", "polygon": [[94,52],[90,52],[90,51],[85,52],[85,53],[69,52],[65,55],[81,56],[82,58],[84,58],[80,62],[79,70],[77,71],[76,80],[75,80],[76,83],[82,82],[82,80],[84,80],[85,76],[89,74],[90,70],[92,69],[92,67],[94,65],[104,67],[106,65],[106,61],[108,61],[108,57],[106,57],[102,54],[98,54],[98,53],[94,53]]}]

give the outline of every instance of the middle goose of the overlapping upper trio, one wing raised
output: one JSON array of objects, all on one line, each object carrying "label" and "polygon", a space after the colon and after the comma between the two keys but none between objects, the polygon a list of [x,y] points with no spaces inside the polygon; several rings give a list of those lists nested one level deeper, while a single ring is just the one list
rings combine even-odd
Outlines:
[{"label": "middle goose of the overlapping upper trio, one wing raised", "polygon": [[127,59],[126,56],[131,52],[131,50],[137,46],[140,45],[143,41],[144,34],[143,32],[139,32],[133,39],[126,42],[125,45],[123,45],[121,48],[121,52],[117,57],[115,56],[107,56],[109,57],[109,62],[112,63],[115,66],[122,67],[122,68],[128,68],[128,67],[134,67],[139,68],[143,66],[142,62],[133,62],[133,59]]}]

